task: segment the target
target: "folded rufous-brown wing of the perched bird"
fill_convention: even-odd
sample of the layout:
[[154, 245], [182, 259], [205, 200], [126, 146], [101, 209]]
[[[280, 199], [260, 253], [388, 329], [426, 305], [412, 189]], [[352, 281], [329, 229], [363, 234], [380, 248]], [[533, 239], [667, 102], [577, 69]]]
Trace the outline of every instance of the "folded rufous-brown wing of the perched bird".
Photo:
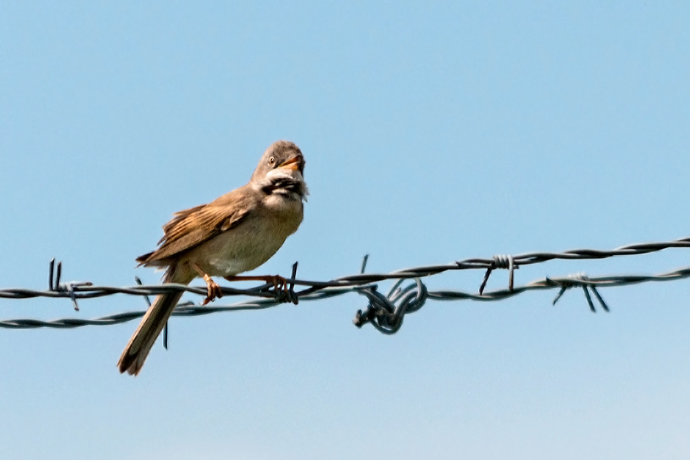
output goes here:
[[159, 248], [137, 258], [137, 261], [144, 265], [158, 265], [155, 262], [190, 250], [238, 226], [255, 206], [252, 194], [242, 189], [233, 190], [208, 204], [175, 212], [175, 217], [163, 226], [164, 236], [158, 242]]

